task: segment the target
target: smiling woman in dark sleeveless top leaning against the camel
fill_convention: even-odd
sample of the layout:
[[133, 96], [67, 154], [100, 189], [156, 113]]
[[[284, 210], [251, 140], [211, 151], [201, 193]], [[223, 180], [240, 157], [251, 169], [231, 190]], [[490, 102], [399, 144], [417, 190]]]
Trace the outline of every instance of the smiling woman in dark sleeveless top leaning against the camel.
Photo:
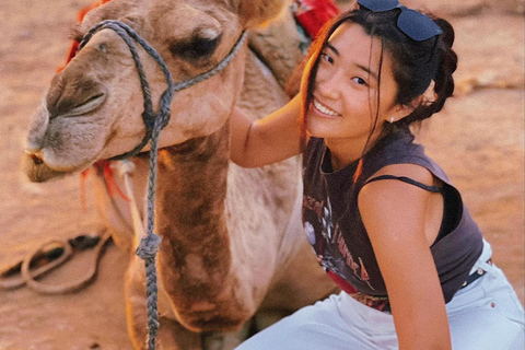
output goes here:
[[514, 291], [409, 130], [453, 93], [453, 28], [397, 0], [358, 3], [314, 43], [298, 96], [232, 118], [242, 166], [303, 153], [305, 233], [342, 289], [238, 349], [523, 349]]

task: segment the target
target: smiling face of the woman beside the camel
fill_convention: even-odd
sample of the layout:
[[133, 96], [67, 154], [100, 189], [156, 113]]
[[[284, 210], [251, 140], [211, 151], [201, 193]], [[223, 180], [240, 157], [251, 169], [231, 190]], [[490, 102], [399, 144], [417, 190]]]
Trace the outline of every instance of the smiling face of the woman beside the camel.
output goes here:
[[397, 84], [386, 51], [378, 85], [380, 59], [381, 39], [368, 35], [360, 25], [347, 22], [334, 32], [319, 57], [308, 114], [310, 135], [327, 141], [364, 140], [364, 147], [376, 119], [377, 96], [380, 110], [372, 141], [383, 122], [405, 116], [400, 115], [402, 107], [395, 103]]

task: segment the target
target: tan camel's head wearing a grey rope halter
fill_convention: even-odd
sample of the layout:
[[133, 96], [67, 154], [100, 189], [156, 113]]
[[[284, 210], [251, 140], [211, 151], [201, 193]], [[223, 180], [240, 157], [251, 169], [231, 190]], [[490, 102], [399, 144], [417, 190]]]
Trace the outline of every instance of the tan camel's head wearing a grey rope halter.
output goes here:
[[[163, 57], [175, 82], [208, 71], [232, 49], [243, 30], [277, 15], [285, 0], [112, 0], [84, 18], [80, 39], [96, 23], [131, 26]], [[137, 45], [158, 110], [166, 89], [156, 62]], [[217, 131], [242, 88], [244, 48], [219, 74], [175, 93], [160, 144]], [[34, 182], [82, 171], [132, 150], [142, 140], [143, 97], [126, 43], [109, 28], [96, 32], [56, 74], [26, 140], [26, 173]]]

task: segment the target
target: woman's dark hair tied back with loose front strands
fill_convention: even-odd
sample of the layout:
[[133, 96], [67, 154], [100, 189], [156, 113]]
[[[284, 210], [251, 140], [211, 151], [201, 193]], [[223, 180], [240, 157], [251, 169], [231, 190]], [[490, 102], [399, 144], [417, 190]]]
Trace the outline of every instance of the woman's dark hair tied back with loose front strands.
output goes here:
[[[320, 52], [330, 35], [339, 25], [346, 22], [359, 24], [364, 28], [365, 33], [382, 39], [382, 59], [380, 65], [383, 61], [383, 51], [388, 51], [393, 60], [394, 79], [398, 86], [397, 103], [412, 105], [415, 98], [425, 92], [430, 82], [432, 80], [435, 82], [435, 101], [420, 103], [418, 106], [415, 106], [416, 108], [410, 115], [392, 125], [385, 122], [383, 132], [390, 132], [399, 128], [408, 129], [408, 126], [412, 122], [427, 119], [443, 108], [446, 98], [454, 92], [452, 73], [457, 67], [457, 56], [452, 49], [454, 30], [447, 21], [428, 14], [442, 28], [443, 34], [423, 42], [417, 42], [397, 27], [398, 15], [398, 10], [372, 12], [359, 9], [341, 13], [324, 27], [320, 35], [312, 44], [304, 61], [305, 63], [310, 62], [312, 66], [308, 67], [310, 71], [306, 71], [303, 78], [306, 80], [303, 84], [305, 89], [303, 92], [302, 110], [303, 137], [306, 135], [307, 112], [313, 98]], [[377, 116], [374, 128], [376, 125]], [[371, 135], [374, 128], [371, 130]]]

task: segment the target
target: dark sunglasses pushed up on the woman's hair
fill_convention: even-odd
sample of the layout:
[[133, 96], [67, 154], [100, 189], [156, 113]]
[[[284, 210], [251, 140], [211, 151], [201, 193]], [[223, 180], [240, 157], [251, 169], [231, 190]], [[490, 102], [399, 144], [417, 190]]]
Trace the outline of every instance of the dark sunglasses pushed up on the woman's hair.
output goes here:
[[407, 9], [398, 0], [358, 0], [361, 9], [372, 12], [385, 12], [400, 9], [397, 27], [416, 42], [423, 42], [440, 35], [443, 31], [429, 16], [416, 10]]

